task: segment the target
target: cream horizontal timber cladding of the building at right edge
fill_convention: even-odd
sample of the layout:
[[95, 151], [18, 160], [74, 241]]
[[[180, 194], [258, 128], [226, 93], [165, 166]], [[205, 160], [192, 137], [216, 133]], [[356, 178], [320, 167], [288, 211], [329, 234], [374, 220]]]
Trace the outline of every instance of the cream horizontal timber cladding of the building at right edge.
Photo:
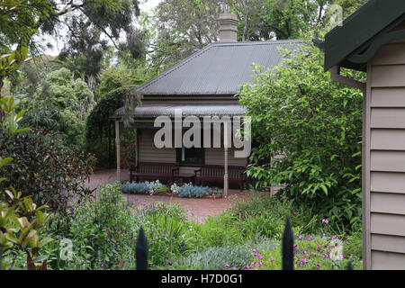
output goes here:
[[384, 45], [367, 76], [368, 268], [405, 269], [405, 43]]

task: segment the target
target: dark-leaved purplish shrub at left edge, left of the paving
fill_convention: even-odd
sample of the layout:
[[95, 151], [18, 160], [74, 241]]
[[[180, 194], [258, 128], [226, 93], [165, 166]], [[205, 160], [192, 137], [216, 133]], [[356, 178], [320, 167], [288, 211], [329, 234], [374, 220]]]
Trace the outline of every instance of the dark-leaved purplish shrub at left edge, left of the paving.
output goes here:
[[65, 148], [58, 137], [34, 130], [13, 138], [0, 139], [2, 155], [13, 157], [4, 166], [7, 180], [0, 184], [13, 185], [23, 195], [32, 195], [40, 205], [47, 204], [53, 211], [66, 215], [72, 198], [80, 200], [90, 193], [84, 181], [93, 173], [84, 153]]

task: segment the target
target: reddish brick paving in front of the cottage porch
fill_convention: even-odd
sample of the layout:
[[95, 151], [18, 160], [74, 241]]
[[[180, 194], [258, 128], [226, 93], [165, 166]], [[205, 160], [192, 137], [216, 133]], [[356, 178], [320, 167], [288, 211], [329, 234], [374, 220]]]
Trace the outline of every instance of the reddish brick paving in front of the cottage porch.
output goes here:
[[[86, 183], [89, 188], [96, 188], [96, 193], [100, 191], [100, 186], [103, 184], [113, 183], [116, 179], [116, 171], [113, 170], [102, 170], [97, 171], [94, 175], [90, 176], [90, 182]], [[121, 171], [121, 180], [129, 180], [128, 171]], [[193, 220], [202, 223], [210, 215], [220, 214], [225, 209], [231, 207], [232, 202], [230, 200], [235, 197], [243, 196], [238, 190], [229, 190], [228, 197], [220, 199], [188, 199], [188, 198], [177, 198], [169, 196], [158, 196], [158, 195], [127, 195], [125, 197], [131, 202], [135, 202], [137, 207], [142, 207], [143, 205], [148, 205], [153, 202], [166, 202], [166, 203], [178, 203], [184, 208], [186, 212], [186, 217], [188, 220]]]

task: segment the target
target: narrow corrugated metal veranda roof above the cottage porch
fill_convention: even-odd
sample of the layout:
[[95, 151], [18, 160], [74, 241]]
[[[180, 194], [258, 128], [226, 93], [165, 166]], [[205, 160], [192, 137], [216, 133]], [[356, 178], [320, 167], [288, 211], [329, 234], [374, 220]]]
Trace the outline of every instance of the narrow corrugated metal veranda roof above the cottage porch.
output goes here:
[[[238, 103], [235, 104], [149, 104], [139, 105], [132, 112], [134, 118], [155, 118], [157, 116], [175, 116], [175, 110], [181, 109], [183, 116], [194, 115], [202, 116], [239, 116], [246, 112], [246, 109]], [[114, 118], [121, 118], [124, 114], [124, 108], [115, 112]]]

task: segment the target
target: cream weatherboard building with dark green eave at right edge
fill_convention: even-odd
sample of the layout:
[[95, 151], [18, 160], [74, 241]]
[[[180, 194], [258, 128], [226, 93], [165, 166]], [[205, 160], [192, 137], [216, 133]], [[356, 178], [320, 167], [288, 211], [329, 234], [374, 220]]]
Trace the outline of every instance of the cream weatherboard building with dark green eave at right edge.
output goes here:
[[[368, 1], [323, 48], [332, 79], [364, 91], [364, 268], [405, 269], [405, 1]], [[341, 67], [365, 71], [367, 82]]]

